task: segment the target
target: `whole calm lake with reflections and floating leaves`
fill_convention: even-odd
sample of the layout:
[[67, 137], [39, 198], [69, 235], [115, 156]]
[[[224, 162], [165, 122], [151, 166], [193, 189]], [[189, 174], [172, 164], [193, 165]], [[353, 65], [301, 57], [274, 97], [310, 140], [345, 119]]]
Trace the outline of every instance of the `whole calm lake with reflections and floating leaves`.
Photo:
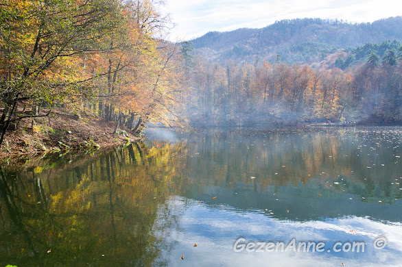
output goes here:
[[401, 266], [401, 130], [147, 129], [4, 162], [0, 266]]

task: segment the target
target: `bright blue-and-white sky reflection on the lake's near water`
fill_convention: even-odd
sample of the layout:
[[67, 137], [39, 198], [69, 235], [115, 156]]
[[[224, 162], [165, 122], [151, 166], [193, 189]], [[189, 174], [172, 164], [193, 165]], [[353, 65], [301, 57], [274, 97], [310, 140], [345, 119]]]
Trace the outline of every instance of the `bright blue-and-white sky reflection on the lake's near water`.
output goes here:
[[[180, 227], [169, 229], [167, 242], [176, 244], [165, 255], [171, 266], [400, 266], [401, 223], [386, 223], [356, 216], [294, 222], [265, 215], [263, 210], [239, 210], [227, 205], [207, 205], [172, 196], [165, 205], [180, 214]], [[158, 222], [161, 223], [161, 222]], [[158, 224], [157, 223], [157, 224]], [[351, 231], [355, 231], [352, 234]], [[166, 235], [160, 233], [161, 235]], [[373, 248], [378, 236], [386, 236], [385, 249]], [[236, 253], [238, 238], [253, 242], [325, 242], [324, 252]], [[365, 242], [365, 251], [327, 252], [335, 242]], [[197, 246], [194, 247], [193, 244]], [[185, 259], [180, 257], [184, 255]]]

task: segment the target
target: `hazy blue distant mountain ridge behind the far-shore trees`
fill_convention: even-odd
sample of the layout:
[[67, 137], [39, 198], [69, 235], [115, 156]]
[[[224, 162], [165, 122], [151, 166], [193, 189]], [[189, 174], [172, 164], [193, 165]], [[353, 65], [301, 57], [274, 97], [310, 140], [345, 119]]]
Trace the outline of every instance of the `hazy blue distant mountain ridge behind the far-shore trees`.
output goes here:
[[[402, 16], [383, 18], [373, 23], [348, 23], [342, 20], [296, 18], [276, 21], [261, 29], [211, 31], [191, 40], [196, 53], [212, 61], [250, 62], [256, 56], [273, 62], [321, 62], [337, 51], [350, 50], [367, 42], [402, 41]], [[335, 56], [336, 58], [336, 56]]]

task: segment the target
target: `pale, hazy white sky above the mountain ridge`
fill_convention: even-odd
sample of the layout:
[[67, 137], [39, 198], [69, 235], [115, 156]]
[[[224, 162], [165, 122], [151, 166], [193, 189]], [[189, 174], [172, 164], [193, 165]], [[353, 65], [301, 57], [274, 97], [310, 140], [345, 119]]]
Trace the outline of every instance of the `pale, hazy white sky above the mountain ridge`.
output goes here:
[[339, 18], [372, 22], [402, 16], [401, 0], [165, 0], [176, 27], [169, 40], [189, 40], [208, 31], [261, 28], [285, 18]]

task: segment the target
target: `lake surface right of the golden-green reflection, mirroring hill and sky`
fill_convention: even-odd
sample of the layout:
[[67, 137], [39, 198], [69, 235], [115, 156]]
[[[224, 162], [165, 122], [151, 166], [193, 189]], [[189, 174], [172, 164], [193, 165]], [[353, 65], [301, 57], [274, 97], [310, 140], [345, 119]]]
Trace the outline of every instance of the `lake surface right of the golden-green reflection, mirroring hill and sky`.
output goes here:
[[[190, 186], [165, 204], [180, 215], [180, 227], [161, 233], [174, 244], [165, 258], [173, 266], [402, 266], [400, 133], [397, 127], [148, 131], [150, 139], [189, 146], [178, 160]], [[388, 238], [383, 250], [373, 248], [379, 236]], [[240, 237], [326, 246], [321, 253], [235, 253]], [[335, 242], [364, 242], [365, 252], [336, 253]]]

